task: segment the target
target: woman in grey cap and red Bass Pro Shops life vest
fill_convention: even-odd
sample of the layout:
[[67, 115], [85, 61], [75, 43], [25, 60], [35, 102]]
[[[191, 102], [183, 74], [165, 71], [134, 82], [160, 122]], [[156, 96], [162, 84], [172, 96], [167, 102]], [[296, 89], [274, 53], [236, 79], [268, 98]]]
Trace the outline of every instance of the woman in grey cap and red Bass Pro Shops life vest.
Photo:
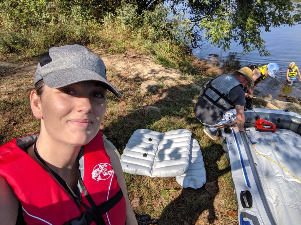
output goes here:
[[121, 98], [103, 61], [80, 45], [52, 47], [34, 85], [40, 132], [0, 147], [1, 224], [137, 224], [119, 158], [99, 131], [107, 90]]

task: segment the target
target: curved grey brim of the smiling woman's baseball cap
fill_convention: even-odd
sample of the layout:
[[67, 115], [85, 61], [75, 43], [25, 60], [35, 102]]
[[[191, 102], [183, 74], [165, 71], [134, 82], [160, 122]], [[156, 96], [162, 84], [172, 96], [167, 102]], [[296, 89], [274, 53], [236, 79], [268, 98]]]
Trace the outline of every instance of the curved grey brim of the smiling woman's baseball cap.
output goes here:
[[45, 84], [50, 88], [61, 88], [70, 84], [89, 80], [95, 80], [103, 83], [109, 91], [111, 91], [118, 98], [121, 98], [121, 94], [117, 90], [117, 88], [115, 88], [104, 77], [102, 77], [98, 73], [95, 73], [92, 70], [82, 68], [70, 68], [55, 71], [54, 73], [50, 73], [43, 78]]

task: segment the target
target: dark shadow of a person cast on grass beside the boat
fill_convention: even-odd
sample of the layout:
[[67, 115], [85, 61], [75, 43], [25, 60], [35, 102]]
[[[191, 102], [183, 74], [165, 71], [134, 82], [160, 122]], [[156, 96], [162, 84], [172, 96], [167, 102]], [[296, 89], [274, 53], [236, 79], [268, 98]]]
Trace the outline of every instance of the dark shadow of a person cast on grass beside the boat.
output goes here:
[[208, 165], [205, 166], [206, 184], [198, 189], [183, 188], [181, 195], [163, 209], [159, 224], [199, 224], [198, 218], [205, 210], [208, 210], [208, 214], [207, 218], [202, 217], [203, 223], [211, 224], [218, 219], [213, 204], [216, 194], [219, 193], [218, 178], [228, 173], [230, 167], [223, 170], [219, 170], [218, 168], [217, 161], [223, 155], [220, 145], [213, 144], [201, 149], [201, 151], [204, 161], [209, 161]]

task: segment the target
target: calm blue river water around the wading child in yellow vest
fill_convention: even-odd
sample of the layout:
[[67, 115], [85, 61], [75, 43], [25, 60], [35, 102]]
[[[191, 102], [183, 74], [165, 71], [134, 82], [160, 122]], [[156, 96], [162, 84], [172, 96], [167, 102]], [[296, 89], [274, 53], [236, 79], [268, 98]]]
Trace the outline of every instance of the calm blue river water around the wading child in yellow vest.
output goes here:
[[[257, 63], [268, 64], [276, 62], [279, 71], [276, 78], [267, 77], [255, 87], [259, 95], [269, 93], [275, 99], [279, 99], [278, 94], [281, 89], [287, 95], [301, 98], [301, 82], [297, 75], [297, 82], [293, 86], [286, 85], [286, 71], [290, 62], [295, 62], [301, 70], [301, 25], [281, 26], [271, 28], [271, 32], [262, 32], [261, 37], [266, 41], [266, 49], [271, 53], [270, 56], [260, 56], [258, 51], [249, 52], [243, 55], [243, 48], [237, 43], [231, 43], [230, 50], [222, 52], [221, 49], [207, 44], [203, 49], [194, 49], [193, 54], [200, 59], [205, 59], [213, 64], [219, 65], [230, 71]], [[209, 54], [217, 54], [219, 57], [210, 57]], [[301, 72], [301, 71], [300, 71]], [[285, 100], [282, 100], [285, 101]]]

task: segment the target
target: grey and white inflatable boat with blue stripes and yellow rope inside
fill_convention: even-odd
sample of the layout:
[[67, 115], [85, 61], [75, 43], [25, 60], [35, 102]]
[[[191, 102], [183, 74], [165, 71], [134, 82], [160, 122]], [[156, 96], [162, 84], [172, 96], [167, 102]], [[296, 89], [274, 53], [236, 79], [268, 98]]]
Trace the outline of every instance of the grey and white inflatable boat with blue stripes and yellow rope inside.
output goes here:
[[[254, 108], [245, 117], [245, 134], [231, 127], [219, 131], [239, 224], [301, 224], [301, 115]], [[276, 131], [256, 130], [257, 119], [274, 123]]]

